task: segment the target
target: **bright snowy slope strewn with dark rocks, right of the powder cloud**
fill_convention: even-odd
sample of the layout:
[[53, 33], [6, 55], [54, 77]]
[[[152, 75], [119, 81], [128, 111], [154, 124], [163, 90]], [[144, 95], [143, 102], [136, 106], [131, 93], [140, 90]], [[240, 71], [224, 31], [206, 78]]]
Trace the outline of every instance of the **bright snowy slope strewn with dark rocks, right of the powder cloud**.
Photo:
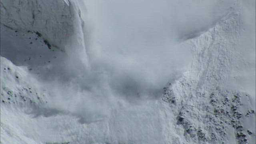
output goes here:
[[[192, 64], [182, 78], [164, 88], [163, 100], [170, 103], [188, 141], [255, 142], [255, 96], [227, 84], [235, 79], [232, 71], [243, 68], [237, 66], [243, 57], [241, 14], [230, 11], [216, 26], [188, 40]], [[255, 68], [253, 61], [244, 64]]]

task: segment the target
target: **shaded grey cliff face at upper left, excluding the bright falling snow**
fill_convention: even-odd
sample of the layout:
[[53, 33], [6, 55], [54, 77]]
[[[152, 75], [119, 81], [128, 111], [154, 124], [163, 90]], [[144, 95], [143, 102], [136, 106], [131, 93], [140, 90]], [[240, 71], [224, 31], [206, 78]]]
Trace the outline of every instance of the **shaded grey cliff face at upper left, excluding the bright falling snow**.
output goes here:
[[39, 32], [50, 44], [64, 49], [68, 36], [79, 26], [75, 10], [62, 0], [3, 0], [1, 23], [17, 30]]

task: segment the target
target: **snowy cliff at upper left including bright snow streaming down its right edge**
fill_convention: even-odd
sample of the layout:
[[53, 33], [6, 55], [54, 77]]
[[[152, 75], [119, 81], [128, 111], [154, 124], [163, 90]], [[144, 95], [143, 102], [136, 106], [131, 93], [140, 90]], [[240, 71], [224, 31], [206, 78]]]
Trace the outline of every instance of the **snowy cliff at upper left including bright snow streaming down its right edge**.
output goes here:
[[1, 0], [1, 24], [37, 32], [48, 48], [54, 46], [68, 54], [72, 48], [86, 58], [84, 10], [82, 2], [75, 0]]

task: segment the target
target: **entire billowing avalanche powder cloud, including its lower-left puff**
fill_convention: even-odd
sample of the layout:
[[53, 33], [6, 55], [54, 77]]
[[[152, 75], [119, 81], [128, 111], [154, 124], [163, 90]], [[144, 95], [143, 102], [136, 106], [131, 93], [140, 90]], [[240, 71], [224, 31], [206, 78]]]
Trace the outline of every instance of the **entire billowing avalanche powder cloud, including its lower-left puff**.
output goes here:
[[[214, 26], [234, 4], [86, 1], [81, 16], [90, 69], [77, 61], [76, 52], [69, 55], [58, 82], [47, 84], [54, 88], [53, 102], [58, 101], [54, 105], [84, 123], [109, 115], [120, 100], [140, 103], [140, 99], [159, 98], [162, 88], [178, 79], [192, 60], [191, 46], [182, 42]], [[66, 81], [60, 84], [61, 78]]]

